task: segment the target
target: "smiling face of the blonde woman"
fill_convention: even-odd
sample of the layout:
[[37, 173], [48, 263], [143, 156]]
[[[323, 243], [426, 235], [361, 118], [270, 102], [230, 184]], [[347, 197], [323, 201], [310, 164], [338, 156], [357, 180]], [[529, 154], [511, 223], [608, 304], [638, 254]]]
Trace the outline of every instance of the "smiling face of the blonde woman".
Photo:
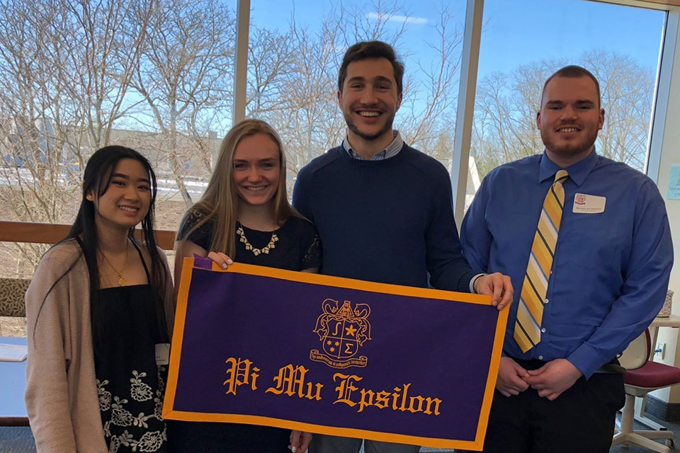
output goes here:
[[281, 176], [280, 151], [267, 134], [241, 139], [234, 150], [232, 179], [241, 200], [249, 205], [273, 202]]

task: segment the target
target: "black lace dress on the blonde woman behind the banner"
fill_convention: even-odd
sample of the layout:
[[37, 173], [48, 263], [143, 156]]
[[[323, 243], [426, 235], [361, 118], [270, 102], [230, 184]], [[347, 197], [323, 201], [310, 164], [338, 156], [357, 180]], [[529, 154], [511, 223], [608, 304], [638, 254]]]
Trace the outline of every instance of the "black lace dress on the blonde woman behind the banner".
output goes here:
[[[182, 219], [179, 237], [202, 219], [200, 212], [191, 210]], [[272, 231], [257, 231], [242, 227], [246, 240], [252, 248], [265, 248], [272, 239]], [[214, 231], [213, 223], [208, 221], [188, 236], [188, 240], [210, 251], [210, 241]], [[279, 229], [274, 231], [278, 241], [273, 243], [268, 253], [255, 254], [246, 249], [241, 235], [234, 232], [237, 263], [254, 264], [286, 270], [305, 270], [318, 268], [321, 264], [321, 244], [317, 229], [309, 221], [300, 217], [288, 218]], [[257, 452], [284, 453], [288, 450], [290, 430], [258, 425], [236, 423], [199, 423], [169, 422], [169, 447], [172, 453], [183, 452]]]

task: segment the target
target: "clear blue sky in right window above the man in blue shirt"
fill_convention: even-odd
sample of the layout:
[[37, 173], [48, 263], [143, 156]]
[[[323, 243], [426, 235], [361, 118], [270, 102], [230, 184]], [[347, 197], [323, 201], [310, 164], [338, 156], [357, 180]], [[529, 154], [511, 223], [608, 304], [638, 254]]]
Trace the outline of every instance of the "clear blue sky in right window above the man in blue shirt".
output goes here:
[[665, 13], [584, 0], [487, 0], [480, 74], [596, 47], [657, 67]]

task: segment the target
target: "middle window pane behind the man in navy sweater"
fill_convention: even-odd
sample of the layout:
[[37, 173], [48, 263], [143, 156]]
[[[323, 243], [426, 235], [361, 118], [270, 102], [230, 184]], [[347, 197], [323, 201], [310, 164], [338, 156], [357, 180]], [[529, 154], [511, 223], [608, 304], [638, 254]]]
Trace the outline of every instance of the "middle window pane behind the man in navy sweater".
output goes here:
[[465, 4], [253, 0], [246, 117], [271, 123], [297, 171], [341, 143], [337, 79], [347, 47], [382, 40], [405, 64], [395, 118], [407, 144], [450, 168]]

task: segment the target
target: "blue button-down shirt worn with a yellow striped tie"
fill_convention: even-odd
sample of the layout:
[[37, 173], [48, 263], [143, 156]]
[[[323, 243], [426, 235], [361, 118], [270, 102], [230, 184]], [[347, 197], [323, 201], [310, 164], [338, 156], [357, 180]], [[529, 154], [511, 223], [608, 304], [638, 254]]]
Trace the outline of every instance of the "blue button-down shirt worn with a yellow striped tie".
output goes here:
[[[543, 154], [494, 169], [465, 215], [460, 239], [473, 269], [511, 277], [504, 353], [566, 358], [590, 377], [659, 312], [673, 251], [664, 201], [650, 178], [595, 151], [565, 169], [565, 210], [536, 347], [522, 353], [513, 331], [540, 210], [560, 167]], [[574, 212], [577, 193], [606, 197], [604, 212]]]

